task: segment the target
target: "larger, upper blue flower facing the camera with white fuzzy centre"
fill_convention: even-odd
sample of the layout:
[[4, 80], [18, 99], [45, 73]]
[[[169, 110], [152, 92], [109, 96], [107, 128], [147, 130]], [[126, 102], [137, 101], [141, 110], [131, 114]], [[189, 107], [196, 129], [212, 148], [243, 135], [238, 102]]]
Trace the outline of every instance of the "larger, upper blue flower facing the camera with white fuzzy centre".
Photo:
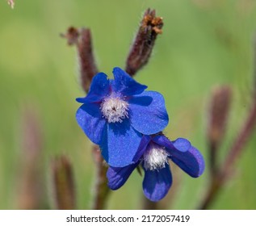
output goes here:
[[104, 159], [114, 167], [133, 163], [141, 142], [141, 133], [162, 131], [168, 124], [162, 94], [145, 91], [120, 68], [113, 70], [114, 79], [105, 73], [94, 76], [89, 93], [77, 98], [83, 103], [77, 121], [86, 136], [99, 144]]

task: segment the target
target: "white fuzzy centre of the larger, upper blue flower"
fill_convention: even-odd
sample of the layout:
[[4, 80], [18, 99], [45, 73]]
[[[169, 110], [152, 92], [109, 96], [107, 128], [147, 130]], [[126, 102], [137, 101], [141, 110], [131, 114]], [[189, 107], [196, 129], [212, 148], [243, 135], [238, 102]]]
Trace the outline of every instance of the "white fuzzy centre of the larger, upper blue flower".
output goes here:
[[119, 97], [105, 98], [100, 108], [108, 123], [121, 123], [128, 118], [128, 103]]

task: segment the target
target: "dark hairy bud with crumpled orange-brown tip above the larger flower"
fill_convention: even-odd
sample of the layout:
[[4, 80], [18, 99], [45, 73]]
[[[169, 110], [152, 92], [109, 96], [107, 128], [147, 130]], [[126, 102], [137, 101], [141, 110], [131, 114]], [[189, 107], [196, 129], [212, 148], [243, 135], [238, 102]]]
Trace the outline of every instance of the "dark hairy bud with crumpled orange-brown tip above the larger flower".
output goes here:
[[155, 10], [145, 11], [126, 61], [125, 70], [131, 76], [149, 61], [157, 35], [162, 34], [162, 26], [162, 17], [157, 17]]

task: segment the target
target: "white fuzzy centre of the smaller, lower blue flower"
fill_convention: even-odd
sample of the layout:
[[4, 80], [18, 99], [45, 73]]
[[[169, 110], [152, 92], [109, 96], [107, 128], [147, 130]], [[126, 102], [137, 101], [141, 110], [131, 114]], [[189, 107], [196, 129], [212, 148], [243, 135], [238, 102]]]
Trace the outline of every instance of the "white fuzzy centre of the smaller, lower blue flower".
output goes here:
[[145, 170], [161, 170], [168, 164], [168, 153], [165, 148], [157, 144], [149, 144], [143, 155]]

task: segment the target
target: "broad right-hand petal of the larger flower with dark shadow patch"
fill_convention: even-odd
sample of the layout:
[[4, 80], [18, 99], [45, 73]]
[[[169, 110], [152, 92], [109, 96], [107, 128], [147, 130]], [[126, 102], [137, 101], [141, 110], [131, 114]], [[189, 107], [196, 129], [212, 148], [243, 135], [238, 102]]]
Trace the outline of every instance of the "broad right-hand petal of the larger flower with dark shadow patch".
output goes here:
[[128, 100], [132, 127], [146, 135], [161, 132], [169, 118], [162, 94], [144, 91]]

